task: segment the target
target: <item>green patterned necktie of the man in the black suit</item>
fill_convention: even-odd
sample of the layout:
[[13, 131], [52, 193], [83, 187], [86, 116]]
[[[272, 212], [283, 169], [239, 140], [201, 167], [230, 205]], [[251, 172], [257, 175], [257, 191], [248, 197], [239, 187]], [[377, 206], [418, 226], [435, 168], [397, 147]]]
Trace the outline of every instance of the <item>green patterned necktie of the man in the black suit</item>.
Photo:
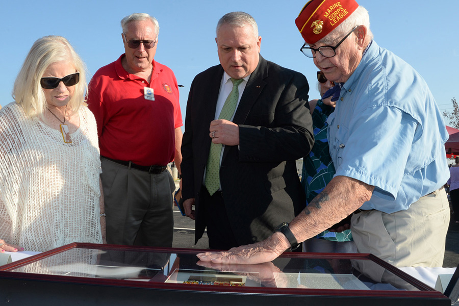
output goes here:
[[[233, 90], [231, 91], [230, 95], [228, 95], [228, 97], [226, 98], [225, 104], [221, 109], [218, 119], [231, 120], [231, 117], [233, 117], [239, 99], [238, 85], [241, 84], [242, 81], [244, 81], [244, 79], [236, 80], [231, 78], [231, 82], [233, 82]], [[221, 143], [211, 143], [209, 159], [207, 160], [206, 180], [204, 181], [210, 195], [213, 195], [215, 191], [217, 191], [218, 188], [220, 188], [221, 148]]]

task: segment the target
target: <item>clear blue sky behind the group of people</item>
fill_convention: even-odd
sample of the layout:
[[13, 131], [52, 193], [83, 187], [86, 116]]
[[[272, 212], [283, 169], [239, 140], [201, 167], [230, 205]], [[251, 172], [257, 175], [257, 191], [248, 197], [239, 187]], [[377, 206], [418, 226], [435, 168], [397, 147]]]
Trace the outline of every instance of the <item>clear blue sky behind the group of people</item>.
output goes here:
[[[2, 1], [0, 105], [13, 98], [11, 90], [33, 42], [45, 35], [66, 37], [86, 62], [89, 77], [123, 53], [119, 21], [131, 13], [148, 13], [160, 24], [155, 59], [174, 72], [185, 118], [194, 76], [218, 64], [215, 27], [227, 12], [244, 11], [258, 23], [261, 54], [267, 60], [303, 73], [310, 97], [317, 98], [316, 71], [299, 52], [303, 44], [294, 20], [306, 0], [228, 1]], [[451, 110], [459, 100], [459, 1], [360, 0], [370, 13], [375, 41], [411, 64], [427, 81], [439, 108]], [[440, 4], [441, 6], [436, 6]]]

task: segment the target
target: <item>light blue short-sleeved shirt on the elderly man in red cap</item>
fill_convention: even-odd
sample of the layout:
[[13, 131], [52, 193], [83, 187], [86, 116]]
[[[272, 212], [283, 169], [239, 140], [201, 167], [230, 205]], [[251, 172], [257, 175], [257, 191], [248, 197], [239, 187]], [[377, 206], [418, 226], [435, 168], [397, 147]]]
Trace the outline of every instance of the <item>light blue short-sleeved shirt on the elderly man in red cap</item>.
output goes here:
[[327, 122], [335, 175], [375, 187], [361, 209], [406, 210], [449, 178], [448, 133], [427, 84], [375, 41]]

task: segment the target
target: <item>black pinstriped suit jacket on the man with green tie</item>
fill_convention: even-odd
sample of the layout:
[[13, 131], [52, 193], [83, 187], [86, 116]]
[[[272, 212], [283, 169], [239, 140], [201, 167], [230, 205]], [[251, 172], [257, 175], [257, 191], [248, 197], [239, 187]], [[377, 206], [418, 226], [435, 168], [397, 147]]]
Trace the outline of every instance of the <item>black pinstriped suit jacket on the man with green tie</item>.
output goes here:
[[[196, 199], [196, 242], [206, 227], [199, 192], [223, 72], [217, 65], [196, 75], [188, 96], [182, 195]], [[305, 207], [295, 160], [314, 143], [308, 91], [304, 75], [260, 56], [233, 120], [239, 125], [239, 148], [224, 146], [220, 167], [227, 215], [240, 245], [266, 239]]]

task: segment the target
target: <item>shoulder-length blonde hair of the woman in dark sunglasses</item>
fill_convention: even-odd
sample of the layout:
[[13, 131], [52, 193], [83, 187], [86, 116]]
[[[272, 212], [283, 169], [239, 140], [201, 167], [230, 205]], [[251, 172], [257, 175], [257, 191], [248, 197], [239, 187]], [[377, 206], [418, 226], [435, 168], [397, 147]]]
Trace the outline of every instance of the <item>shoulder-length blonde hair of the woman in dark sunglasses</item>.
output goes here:
[[40, 80], [45, 70], [58, 62], [69, 62], [80, 72], [80, 82], [74, 85], [67, 110], [77, 113], [81, 105], [86, 105], [88, 86], [84, 62], [64, 37], [44, 36], [34, 42], [14, 81], [13, 98], [28, 116], [44, 119], [47, 102]]

